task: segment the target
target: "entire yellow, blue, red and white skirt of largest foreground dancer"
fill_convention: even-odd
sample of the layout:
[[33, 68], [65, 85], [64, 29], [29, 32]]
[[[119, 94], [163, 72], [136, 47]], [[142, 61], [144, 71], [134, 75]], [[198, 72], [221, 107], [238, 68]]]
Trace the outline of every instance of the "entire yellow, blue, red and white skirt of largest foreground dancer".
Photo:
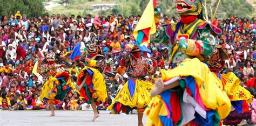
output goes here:
[[180, 77], [179, 86], [153, 97], [144, 111], [147, 125], [219, 125], [231, 111], [220, 80], [197, 58], [161, 70], [163, 81]]

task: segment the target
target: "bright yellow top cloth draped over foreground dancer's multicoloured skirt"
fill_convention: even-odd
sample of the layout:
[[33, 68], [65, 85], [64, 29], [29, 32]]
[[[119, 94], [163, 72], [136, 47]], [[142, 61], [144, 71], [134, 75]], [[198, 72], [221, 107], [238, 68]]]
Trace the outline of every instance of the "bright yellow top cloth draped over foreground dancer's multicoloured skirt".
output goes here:
[[228, 115], [228, 110], [231, 110], [231, 102], [222, 90], [221, 82], [211, 74], [207, 65], [197, 58], [187, 58], [174, 69], [169, 71], [161, 69], [161, 73], [163, 81], [174, 77], [192, 76], [199, 87], [200, 97], [205, 107], [213, 110], [218, 109], [221, 119]]

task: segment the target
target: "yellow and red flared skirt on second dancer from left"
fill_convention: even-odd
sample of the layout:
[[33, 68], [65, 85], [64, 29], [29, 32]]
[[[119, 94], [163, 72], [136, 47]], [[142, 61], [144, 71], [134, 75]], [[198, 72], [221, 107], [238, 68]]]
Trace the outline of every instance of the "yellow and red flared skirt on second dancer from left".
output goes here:
[[88, 73], [88, 76], [85, 85], [80, 90], [81, 98], [88, 104], [91, 104], [92, 100], [97, 104], [105, 102], [107, 91], [103, 75], [95, 68], [84, 67], [78, 75], [78, 85], [81, 85], [85, 79], [85, 73]]

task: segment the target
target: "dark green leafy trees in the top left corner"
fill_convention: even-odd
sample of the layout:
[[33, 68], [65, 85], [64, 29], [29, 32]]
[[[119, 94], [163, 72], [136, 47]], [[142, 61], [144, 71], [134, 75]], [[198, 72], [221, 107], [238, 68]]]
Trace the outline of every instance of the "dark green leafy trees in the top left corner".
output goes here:
[[0, 0], [1, 15], [9, 17], [10, 14], [15, 15], [17, 11], [25, 13], [28, 18], [43, 16], [45, 13], [42, 0]]

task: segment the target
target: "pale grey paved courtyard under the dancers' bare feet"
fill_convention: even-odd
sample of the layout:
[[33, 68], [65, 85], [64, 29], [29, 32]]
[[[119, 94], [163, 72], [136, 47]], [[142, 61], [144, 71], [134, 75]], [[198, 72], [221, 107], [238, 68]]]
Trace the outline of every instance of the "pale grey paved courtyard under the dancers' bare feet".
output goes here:
[[138, 125], [137, 115], [108, 113], [100, 111], [99, 118], [91, 122], [92, 111], [56, 111], [55, 117], [49, 117], [50, 111], [0, 111], [0, 125]]

